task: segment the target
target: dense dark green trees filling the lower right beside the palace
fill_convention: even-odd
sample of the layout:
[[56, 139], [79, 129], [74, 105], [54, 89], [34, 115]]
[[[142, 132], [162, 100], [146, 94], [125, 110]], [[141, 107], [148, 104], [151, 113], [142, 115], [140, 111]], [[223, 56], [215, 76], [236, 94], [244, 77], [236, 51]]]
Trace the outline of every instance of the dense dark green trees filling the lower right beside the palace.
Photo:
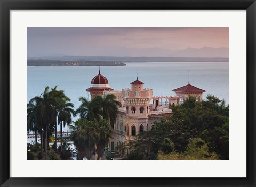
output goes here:
[[228, 159], [228, 114], [224, 100], [189, 97], [172, 106], [154, 129], [127, 143], [126, 159]]

